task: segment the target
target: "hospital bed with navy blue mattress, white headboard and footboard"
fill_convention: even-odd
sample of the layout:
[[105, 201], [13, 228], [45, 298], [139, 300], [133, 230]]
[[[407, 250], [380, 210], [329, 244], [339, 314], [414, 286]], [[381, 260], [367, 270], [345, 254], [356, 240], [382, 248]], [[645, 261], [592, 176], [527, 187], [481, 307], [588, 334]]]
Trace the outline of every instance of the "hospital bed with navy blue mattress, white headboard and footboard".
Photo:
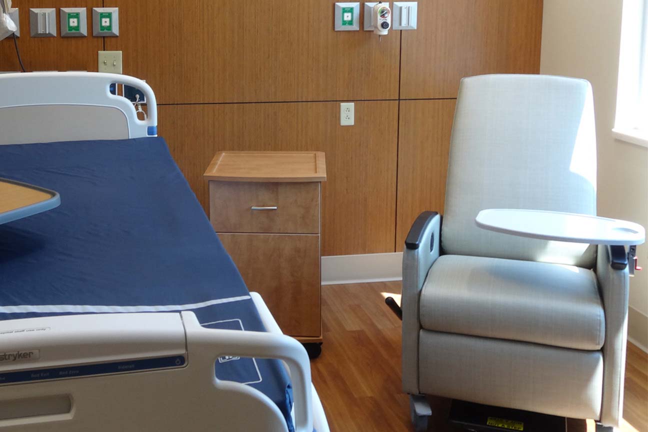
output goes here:
[[329, 431], [305, 350], [245, 287], [145, 82], [0, 75], [0, 144], [0, 177], [61, 201], [0, 225], [0, 431]]

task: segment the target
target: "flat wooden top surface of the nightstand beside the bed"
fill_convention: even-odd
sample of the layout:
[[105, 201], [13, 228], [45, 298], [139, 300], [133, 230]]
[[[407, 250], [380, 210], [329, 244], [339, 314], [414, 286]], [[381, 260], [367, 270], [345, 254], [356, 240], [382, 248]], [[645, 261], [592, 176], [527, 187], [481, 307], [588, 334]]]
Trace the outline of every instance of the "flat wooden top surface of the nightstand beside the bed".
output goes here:
[[219, 152], [203, 177], [211, 181], [326, 181], [323, 152]]

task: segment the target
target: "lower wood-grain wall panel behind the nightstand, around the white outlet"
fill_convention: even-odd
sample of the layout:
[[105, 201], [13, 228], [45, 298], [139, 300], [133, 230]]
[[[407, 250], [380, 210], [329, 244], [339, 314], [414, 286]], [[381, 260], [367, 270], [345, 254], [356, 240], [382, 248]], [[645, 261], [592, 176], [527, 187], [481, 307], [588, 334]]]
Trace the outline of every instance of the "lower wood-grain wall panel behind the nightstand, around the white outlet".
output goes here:
[[340, 126], [340, 104], [212, 104], [159, 107], [159, 133], [209, 208], [202, 174], [222, 150], [326, 152], [322, 253], [393, 252], [398, 102], [356, 102], [356, 124]]

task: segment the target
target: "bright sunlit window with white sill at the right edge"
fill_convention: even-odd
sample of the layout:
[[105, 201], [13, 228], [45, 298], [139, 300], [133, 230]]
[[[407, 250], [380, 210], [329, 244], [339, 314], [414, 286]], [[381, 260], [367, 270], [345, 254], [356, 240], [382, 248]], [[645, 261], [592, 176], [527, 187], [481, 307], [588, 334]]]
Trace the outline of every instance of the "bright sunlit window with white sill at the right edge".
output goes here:
[[623, 0], [614, 135], [648, 147], [648, 0]]

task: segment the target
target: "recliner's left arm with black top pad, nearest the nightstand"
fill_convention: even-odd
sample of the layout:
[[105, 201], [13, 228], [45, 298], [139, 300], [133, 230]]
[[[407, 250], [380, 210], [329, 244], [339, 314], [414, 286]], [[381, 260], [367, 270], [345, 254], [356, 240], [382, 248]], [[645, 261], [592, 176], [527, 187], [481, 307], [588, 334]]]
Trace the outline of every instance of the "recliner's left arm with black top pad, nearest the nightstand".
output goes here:
[[419, 393], [419, 297], [432, 264], [439, 258], [441, 215], [422, 212], [413, 223], [403, 251], [402, 381], [403, 390]]

